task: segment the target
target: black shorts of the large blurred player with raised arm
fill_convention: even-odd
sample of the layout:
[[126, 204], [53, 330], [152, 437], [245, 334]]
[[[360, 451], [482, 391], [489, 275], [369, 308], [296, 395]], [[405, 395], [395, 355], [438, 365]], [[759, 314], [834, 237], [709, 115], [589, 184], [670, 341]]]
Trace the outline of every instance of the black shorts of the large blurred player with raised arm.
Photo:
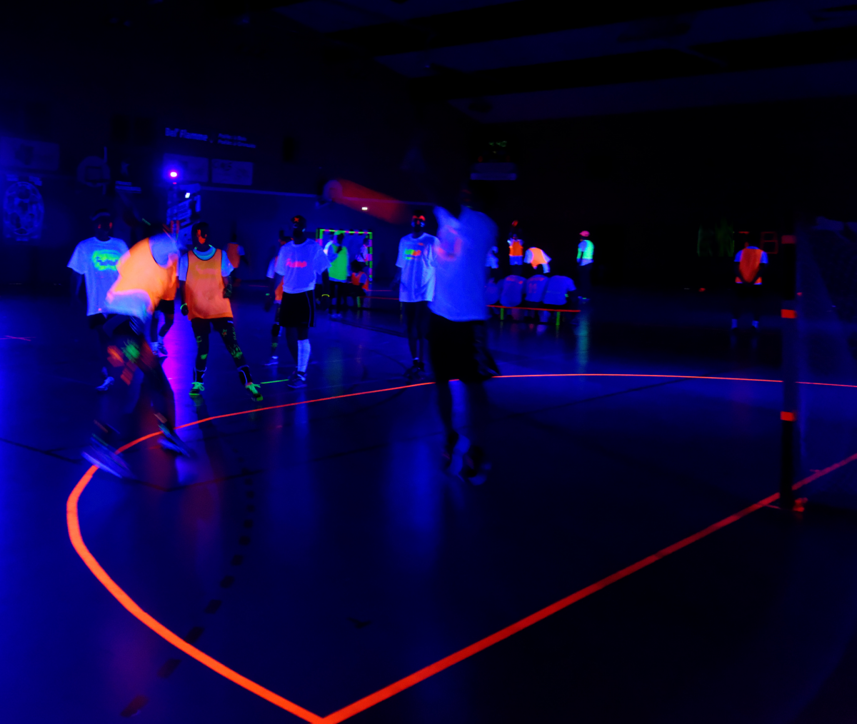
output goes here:
[[482, 382], [500, 374], [482, 320], [453, 322], [429, 312], [428, 356], [435, 380]]

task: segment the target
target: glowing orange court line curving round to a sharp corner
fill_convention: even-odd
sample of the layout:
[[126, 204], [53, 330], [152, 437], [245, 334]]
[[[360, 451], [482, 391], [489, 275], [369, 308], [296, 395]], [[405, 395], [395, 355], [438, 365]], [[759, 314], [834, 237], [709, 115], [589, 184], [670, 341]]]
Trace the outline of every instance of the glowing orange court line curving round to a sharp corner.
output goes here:
[[[781, 380], [750, 380], [746, 378], [740, 377], [704, 377], [704, 376], [696, 376], [696, 375], [682, 375], [682, 374], [599, 374], [599, 373], [568, 373], [568, 374], [504, 374], [499, 375], [500, 378], [504, 379], [512, 379], [518, 377], [656, 377], [662, 379], [678, 379], [678, 380], [734, 380], [734, 381], [747, 381], [747, 382], [779, 382]], [[333, 395], [332, 397], [327, 398], [317, 398], [311, 400], [301, 400], [298, 402], [285, 403], [285, 404], [277, 404], [272, 405], [270, 407], [262, 407], [255, 408], [252, 410], [241, 410], [238, 412], [229, 412], [224, 415], [214, 415], [211, 417], [205, 417], [201, 420], [195, 420], [194, 422], [187, 422], [183, 425], [178, 426], [179, 428], [188, 428], [192, 425], [198, 425], [201, 422], [208, 422], [210, 420], [218, 420], [224, 417], [232, 417], [237, 415], [248, 415], [252, 412], [261, 412], [264, 410], [278, 410], [284, 407], [293, 407], [300, 404], [309, 404], [314, 402], [325, 402], [327, 400], [333, 399], [341, 399], [341, 398], [351, 398], [357, 397], [360, 395], [368, 395], [374, 394], [375, 392], [394, 392], [398, 390], [404, 390], [409, 387], [418, 387], [425, 385], [432, 385], [433, 382], [421, 382], [416, 385], [404, 385], [398, 387], [387, 387], [381, 390], [368, 390], [365, 392], [349, 392], [344, 395]], [[833, 383], [826, 382], [804, 382], [800, 384], [807, 385], [824, 385], [824, 386], [836, 386], [836, 387], [854, 387], [854, 385], [835, 385]], [[141, 438], [137, 438], [136, 440], [132, 440], [127, 445], [123, 445], [119, 448], [119, 452], [124, 452], [128, 450], [130, 447], [135, 446], [141, 443], [143, 440], [149, 440], [150, 438], [156, 437], [160, 433], [151, 433], [142, 436]], [[796, 482], [793, 486], [794, 489], [801, 488], [806, 484], [817, 480], [821, 476], [825, 476], [833, 470], [838, 470], [844, 465], [857, 460], [857, 453], [851, 455], [844, 460], [841, 460], [839, 463], [830, 465], [824, 470], [818, 470], [818, 472], [813, 473], [811, 476], [808, 476], [801, 480], [800, 482]], [[405, 689], [410, 688], [413, 685], [418, 684], [419, 682], [428, 679], [428, 677], [433, 676], [435, 673], [440, 673], [444, 669], [451, 667], [453, 664], [458, 663], [458, 661], [463, 661], [466, 658], [484, 650], [488, 649], [489, 646], [494, 645], [494, 643], [499, 643], [505, 638], [512, 636], [512, 634], [517, 633], [518, 631], [523, 631], [525, 628], [528, 628], [531, 625], [536, 624], [542, 619], [548, 618], [548, 616], [561, 611], [563, 608], [569, 607], [572, 603], [576, 603], [587, 596], [596, 593], [601, 589], [607, 588], [611, 583], [615, 583], [616, 581], [621, 580], [627, 576], [630, 576], [632, 573], [639, 571], [642, 568], [645, 568], [652, 563], [655, 563], [657, 560], [665, 558], [670, 553], [675, 553], [676, 551], [689, 546], [693, 542], [697, 542], [698, 540], [704, 538], [705, 536], [710, 536], [711, 533], [714, 533], [716, 530], [720, 530], [725, 528], [729, 524], [733, 524], [735, 521], [740, 520], [741, 518], [745, 518], [752, 512], [758, 511], [759, 508], [764, 506], [768, 506], [777, 500], [780, 497], [780, 494], [776, 493], [773, 495], [769, 495], [767, 498], [763, 500], [759, 500], [757, 503], [753, 503], [752, 506], [747, 506], [743, 510], [734, 513], [728, 518], [723, 518], [721, 521], [718, 521], [715, 524], [711, 524], [707, 528], [700, 530], [698, 533], [694, 533], [692, 536], [687, 536], [683, 538], [679, 542], [673, 543], [671, 546], [662, 548], [657, 553], [653, 553], [650, 556], [647, 556], [644, 559], [638, 560], [637, 563], [632, 565], [628, 565], [620, 571], [616, 571], [615, 573], [609, 575], [608, 577], [602, 578], [600, 581], [596, 583], [591, 583], [589, 586], [586, 586], [583, 589], [578, 590], [576, 593], [572, 593], [572, 595], [566, 596], [566, 598], [560, 599], [560, 601], [556, 601], [552, 603], [548, 607], [544, 607], [536, 613], [531, 613], [524, 619], [519, 620], [517, 623], [506, 626], [506, 628], [497, 631], [491, 636], [482, 638], [480, 641], [476, 643], [471, 643], [470, 646], [465, 647], [464, 649], [460, 649], [452, 655], [446, 656], [440, 661], [435, 661], [434, 664], [430, 664], [428, 667], [424, 667], [419, 671], [412, 673], [410, 676], [406, 676], [404, 679], [399, 679], [399, 681], [394, 682], [391, 685], [384, 687], [379, 691], [375, 691], [375, 693], [370, 694], [368, 697], [363, 697], [359, 699], [357, 702], [349, 704], [344, 709], [339, 709], [339, 711], [333, 712], [333, 714], [327, 715], [325, 717], [321, 717], [319, 715], [313, 714], [313, 712], [308, 709], [303, 709], [303, 707], [297, 705], [294, 702], [291, 702], [289, 699], [285, 697], [279, 696], [279, 694], [275, 694], [273, 691], [266, 689], [264, 686], [256, 684], [255, 681], [248, 679], [237, 671], [234, 671], [230, 667], [225, 666], [217, 659], [207, 655], [200, 649], [197, 649], [195, 646], [187, 643], [183, 640], [183, 638], [177, 636], [177, 634], [173, 633], [168, 629], [165, 625], [161, 624], [157, 619], [154, 619], [151, 615], [143, 611], [143, 609], [137, 605], [137, 603], [127, 594], [125, 591], [119, 587], [119, 585], [107, 574], [104, 568], [101, 567], [98, 560], [95, 559], [92, 553], [89, 552], [89, 549], [86, 546], [86, 543], [83, 542], [83, 536], [81, 536], [81, 525], [80, 519], [78, 517], [77, 504], [78, 500], [80, 500], [81, 494], [84, 489], [87, 487], [89, 482], [92, 480], [95, 471], [98, 470], [94, 465], [90, 467], [86, 473], [83, 474], [81, 479], [75, 485], [75, 488], [69, 494], [69, 499], [66, 501], [66, 523], [69, 529], [69, 539], [71, 540], [72, 546], [75, 548], [75, 552], [81, 557], [84, 564], [87, 565], [87, 568], [93, 572], [93, 575], [99, 579], [99, 582], [107, 589], [111, 595], [116, 598], [119, 603], [128, 610], [131, 615], [133, 615], [136, 619], [141, 621], [142, 624], [147, 625], [152, 631], [157, 633], [160, 637], [165, 639], [168, 643], [171, 643], [177, 649], [182, 650], [185, 654], [194, 658], [196, 661], [199, 661], [204, 666], [212, 669], [212, 671], [219, 673], [225, 679], [229, 679], [233, 683], [242, 686], [244, 689], [253, 692], [256, 696], [261, 697], [267, 700], [270, 703], [273, 703], [275, 706], [278, 706], [280, 709], [285, 709], [291, 714], [294, 714], [304, 721], [309, 721], [311, 724], [338, 724], [340, 721], [345, 721], [357, 713], [369, 709], [369, 707], [374, 706], [376, 703], [381, 703], [385, 699], [393, 697], [393, 695], [398, 694], [399, 691], [404, 691]]]

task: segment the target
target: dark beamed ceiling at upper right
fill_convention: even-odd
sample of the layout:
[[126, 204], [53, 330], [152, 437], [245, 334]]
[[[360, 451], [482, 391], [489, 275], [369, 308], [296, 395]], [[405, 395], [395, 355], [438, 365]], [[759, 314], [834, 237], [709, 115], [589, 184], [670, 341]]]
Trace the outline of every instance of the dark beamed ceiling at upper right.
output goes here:
[[277, 12], [483, 122], [857, 93], [857, 4], [835, 0], [305, 0]]

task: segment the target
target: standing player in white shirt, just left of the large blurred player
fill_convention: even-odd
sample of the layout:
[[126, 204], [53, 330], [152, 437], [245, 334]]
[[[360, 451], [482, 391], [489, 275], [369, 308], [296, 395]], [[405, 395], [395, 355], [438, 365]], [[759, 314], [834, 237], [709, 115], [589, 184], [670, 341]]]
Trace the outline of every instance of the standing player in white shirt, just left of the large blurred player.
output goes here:
[[406, 377], [417, 379], [425, 374], [426, 337], [428, 335], [428, 302], [434, 298], [434, 244], [437, 237], [425, 232], [425, 213], [417, 210], [411, 218], [413, 231], [399, 240], [399, 267], [393, 278], [393, 289], [399, 284], [399, 302], [405, 312], [408, 346], [413, 365]]

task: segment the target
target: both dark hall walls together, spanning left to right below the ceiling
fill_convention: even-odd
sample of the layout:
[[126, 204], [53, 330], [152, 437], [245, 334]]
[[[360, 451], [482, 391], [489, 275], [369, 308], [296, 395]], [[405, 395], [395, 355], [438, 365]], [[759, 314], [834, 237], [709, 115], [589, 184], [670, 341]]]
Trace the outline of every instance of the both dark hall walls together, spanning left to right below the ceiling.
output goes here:
[[[524, 241], [554, 258], [552, 271], [569, 272], [578, 231], [590, 230], [604, 284], [698, 284], [703, 222], [726, 218], [758, 238], [789, 233], [798, 218], [857, 219], [854, 98], [488, 125], [442, 99], [415, 97], [405, 79], [360, 51], [256, 0], [31, 3], [7, 17], [0, 135], [59, 147], [55, 169], [23, 169], [9, 165], [5, 147], [0, 154], [0, 192], [34, 177], [45, 204], [38, 240], [0, 239], [7, 288], [63, 287], [71, 249], [91, 233], [91, 212], [128, 211], [112, 184], [103, 194], [77, 179], [81, 160], [105, 148], [111, 179], [141, 188], [126, 197], [137, 217], [164, 214], [165, 153], [252, 163], [251, 185], [208, 182], [221, 190], [202, 197], [214, 241], [234, 233], [248, 249], [245, 278], [263, 276], [277, 230], [296, 212], [310, 229], [375, 230], [377, 274], [389, 278], [408, 227], [318, 207], [315, 194], [345, 178], [398, 199], [432, 200], [492, 140], [507, 142], [518, 171], [518, 180], [492, 184], [501, 249], [517, 218]], [[255, 148], [165, 129], [241, 136]], [[117, 236], [132, 233], [117, 224]], [[721, 261], [716, 276], [726, 284], [729, 263]]]

